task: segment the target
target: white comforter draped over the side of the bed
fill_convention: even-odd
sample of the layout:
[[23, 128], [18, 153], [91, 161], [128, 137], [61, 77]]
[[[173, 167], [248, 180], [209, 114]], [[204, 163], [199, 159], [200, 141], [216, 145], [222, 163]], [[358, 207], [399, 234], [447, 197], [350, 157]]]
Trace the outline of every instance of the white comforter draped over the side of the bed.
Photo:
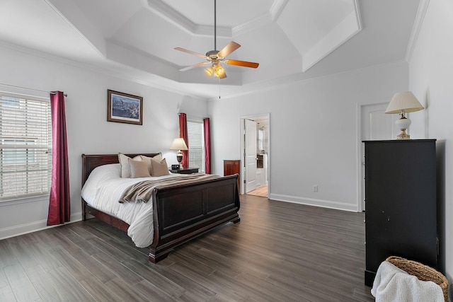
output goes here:
[[95, 168], [82, 187], [82, 198], [93, 208], [115, 216], [130, 225], [127, 235], [139, 248], [151, 245], [154, 235], [153, 203], [120, 203], [122, 192], [134, 183], [143, 180], [164, 179], [182, 174], [170, 174], [149, 178], [121, 178], [119, 163], [101, 165]]

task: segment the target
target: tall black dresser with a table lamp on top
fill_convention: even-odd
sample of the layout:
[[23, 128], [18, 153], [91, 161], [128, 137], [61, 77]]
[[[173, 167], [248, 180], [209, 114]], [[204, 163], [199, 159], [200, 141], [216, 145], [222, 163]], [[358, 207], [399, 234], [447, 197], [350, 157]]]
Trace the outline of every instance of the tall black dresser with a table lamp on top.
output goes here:
[[364, 143], [365, 284], [392, 255], [437, 269], [436, 140]]

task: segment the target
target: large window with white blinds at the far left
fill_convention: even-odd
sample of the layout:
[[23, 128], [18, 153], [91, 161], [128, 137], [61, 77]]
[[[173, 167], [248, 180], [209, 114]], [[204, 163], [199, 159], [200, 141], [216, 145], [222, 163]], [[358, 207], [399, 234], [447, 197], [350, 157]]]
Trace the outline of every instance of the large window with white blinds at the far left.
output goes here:
[[0, 95], [0, 201], [50, 190], [50, 100], [38, 99]]

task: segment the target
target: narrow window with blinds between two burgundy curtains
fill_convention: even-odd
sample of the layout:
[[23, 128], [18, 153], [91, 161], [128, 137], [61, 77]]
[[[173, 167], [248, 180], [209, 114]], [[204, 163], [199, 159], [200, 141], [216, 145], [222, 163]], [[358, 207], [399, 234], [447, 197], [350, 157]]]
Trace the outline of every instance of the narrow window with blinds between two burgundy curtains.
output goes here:
[[198, 168], [198, 172], [205, 172], [205, 136], [203, 122], [187, 121], [189, 141], [189, 168]]

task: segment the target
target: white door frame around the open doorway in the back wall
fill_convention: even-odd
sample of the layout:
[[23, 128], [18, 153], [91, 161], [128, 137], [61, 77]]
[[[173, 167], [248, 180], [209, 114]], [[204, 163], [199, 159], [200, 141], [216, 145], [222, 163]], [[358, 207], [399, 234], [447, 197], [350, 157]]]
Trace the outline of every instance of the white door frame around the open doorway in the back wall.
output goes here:
[[241, 178], [241, 194], [244, 194], [244, 192], [246, 192], [246, 188], [245, 188], [245, 185], [244, 185], [244, 180], [246, 180], [245, 178], [245, 167], [244, 167], [244, 164], [246, 162], [246, 158], [245, 158], [245, 146], [244, 146], [244, 136], [246, 135], [246, 130], [244, 129], [244, 121], [243, 120], [268, 120], [268, 142], [266, 144], [266, 150], [268, 151], [268, 196], [270, 194], [270, 184], [271, 184], [271, 180], [270, 180], [270, 166], [271, 166], [271, 163], [270, 163], [270, 113], [263, 113], [263, 114], [256, 114], [256, 115], [241, 115], [240, 119], [239, 119], [239, 141], [240, 141], [240, 144], [239, 144], [239, 154], [241, 156], [239, 156], [241, 158], [241, 169], [240, 169], [240, 178]]

